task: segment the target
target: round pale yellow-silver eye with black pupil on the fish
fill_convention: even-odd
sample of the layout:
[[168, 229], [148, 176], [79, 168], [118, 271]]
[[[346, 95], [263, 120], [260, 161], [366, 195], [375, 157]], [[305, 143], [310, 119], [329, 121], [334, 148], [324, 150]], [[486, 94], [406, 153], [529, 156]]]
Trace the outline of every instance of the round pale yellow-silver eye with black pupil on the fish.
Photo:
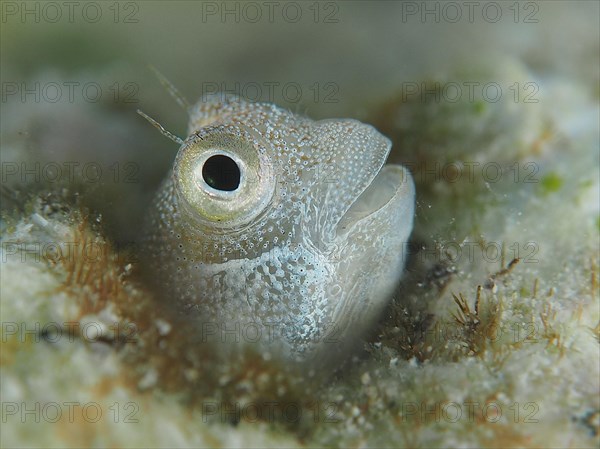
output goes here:
[[262, 143], [235, 128], [207, 127], [183, 142], [173, 179], [199, 224], [237, 228], [263, 213], [275, 190]]

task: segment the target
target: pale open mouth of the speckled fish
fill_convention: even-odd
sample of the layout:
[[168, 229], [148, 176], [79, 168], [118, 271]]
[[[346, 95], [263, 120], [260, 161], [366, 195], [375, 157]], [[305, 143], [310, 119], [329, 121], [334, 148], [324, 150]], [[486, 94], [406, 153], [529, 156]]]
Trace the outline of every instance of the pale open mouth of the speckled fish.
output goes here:
[[401, 165], [385, 165], [371, 184], [354, 200], [337, 225], [337, 235], [349, 233], [358, 223], [377, 213], [392, 211], [414, 196], [410, 172]]

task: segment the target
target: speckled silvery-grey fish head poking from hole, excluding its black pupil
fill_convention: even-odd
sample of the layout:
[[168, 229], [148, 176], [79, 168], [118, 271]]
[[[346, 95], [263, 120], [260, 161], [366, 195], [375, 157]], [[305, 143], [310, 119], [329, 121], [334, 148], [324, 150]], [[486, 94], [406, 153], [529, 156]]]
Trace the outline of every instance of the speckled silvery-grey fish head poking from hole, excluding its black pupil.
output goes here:
[[[144, 231], [164, 301], [285, 357], [342, 350], [373, 325], [404, 267], [415, 193], [406, 169], [384, 167], [390, 146], [356, 120], [203, 97]], [[224, 199], [191, 179], [223, 152], [243, 167]]]

